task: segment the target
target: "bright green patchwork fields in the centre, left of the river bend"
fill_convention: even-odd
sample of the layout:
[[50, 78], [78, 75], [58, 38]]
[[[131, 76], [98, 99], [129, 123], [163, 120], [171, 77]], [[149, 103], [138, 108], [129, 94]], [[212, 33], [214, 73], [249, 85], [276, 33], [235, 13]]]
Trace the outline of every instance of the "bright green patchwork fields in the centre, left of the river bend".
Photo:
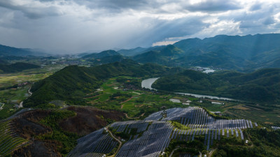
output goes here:
[[[141, 89], [129, 89], [124, 87], [122, 82], [118, 82], [120, 77], [114, 77], [102, 84], [98, 94], [85, 97], [87, 103], [102, 109], [114, 109], [126, 112], [128, 117], [139, 117], [141, 114], [156, 112], [160, 107], [184, 107], [169, 101], [171, 95], [154, 94], [151, 91]], [[125, 82], [139, 78], [122, 77]]]

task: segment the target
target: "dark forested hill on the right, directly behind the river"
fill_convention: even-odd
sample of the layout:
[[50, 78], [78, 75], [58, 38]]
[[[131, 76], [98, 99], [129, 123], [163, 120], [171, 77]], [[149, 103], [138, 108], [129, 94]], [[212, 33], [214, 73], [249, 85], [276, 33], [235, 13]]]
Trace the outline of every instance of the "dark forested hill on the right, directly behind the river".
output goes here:
[[153, 88], [239, 100], [277, 102], [280, 100], [279, 80], [279, 68], [256, 70], [253, 73], [222, 71], [213, 74], [185, 70], [176, 75], [161, 77], [153, 84]]

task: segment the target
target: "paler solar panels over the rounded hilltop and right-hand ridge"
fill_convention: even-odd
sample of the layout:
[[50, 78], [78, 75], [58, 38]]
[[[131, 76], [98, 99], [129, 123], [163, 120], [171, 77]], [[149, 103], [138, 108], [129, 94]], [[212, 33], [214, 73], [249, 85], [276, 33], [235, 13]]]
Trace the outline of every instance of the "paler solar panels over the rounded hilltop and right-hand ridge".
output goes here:
[[[162, 117], [163, 112], [155, 112], [146, 119], [162, 121], [178, 121], [179, 123], [190, 127], [188, 131], [174, 130], [172, 139], [176, 140], [194, 140], [195, 135], [205, 135], [204, 144], [207, 145], [209, 150], [210, 145], [214, 140], [221, 140], [221, 136], [230, 137], [234, 135], [244, 140], [244, 135], [241, 129], [253, 128], [252, 121], [246, 119], [214, 119], [203, 110], [201, 107], [188, 107], [188, 108], [172, 108], [165, 110], [166, 117]], [[258, 124], [255, 123], [255, 126]]]

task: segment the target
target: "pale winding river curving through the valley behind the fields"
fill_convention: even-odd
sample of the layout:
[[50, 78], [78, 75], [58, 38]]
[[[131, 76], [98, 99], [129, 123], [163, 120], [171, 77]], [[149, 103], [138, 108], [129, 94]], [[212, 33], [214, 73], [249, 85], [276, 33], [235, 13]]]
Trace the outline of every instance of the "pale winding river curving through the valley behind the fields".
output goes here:
[[[160, 77], [157, 78], [149, 78], [146, 80], [143, 80], [141, 82], [141, 87], [146, 89], [153, 89], [152, 84], [158, 80]], [[156, 89], [154, 89], [156, 90]], [[194, 96], [195, 98], [211, 98], [211, 99], [218, 99], [218, 100], [235, 100], [232, 98], [223, 98], [218, 96], [207, 96], [207, 95], [200, 95], [200, 94], [188, 94], [188, 93], [181, 93], [181, 92], [174, 92], [174, 94], [184, 95], [184, 96]]]

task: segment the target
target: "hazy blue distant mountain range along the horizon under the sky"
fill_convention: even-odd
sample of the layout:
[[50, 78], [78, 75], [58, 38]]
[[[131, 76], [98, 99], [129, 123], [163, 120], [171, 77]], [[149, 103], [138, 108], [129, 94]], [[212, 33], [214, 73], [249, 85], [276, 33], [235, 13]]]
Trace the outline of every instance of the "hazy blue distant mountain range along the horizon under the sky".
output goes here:
[[[202, 66], [246, 72], [260, 68], [280, 68], [279, 39], [279, 33], [253, 36], [218, 35], [204, 39], [188, 38], [173, 45], [106, 50], [78, 56], [98, 63], [111, 63], [129, 58], [139, 63], [159, 63], [164, 66]], [[41, 53], [0, 45], [0, 57], [37, 54]]]

